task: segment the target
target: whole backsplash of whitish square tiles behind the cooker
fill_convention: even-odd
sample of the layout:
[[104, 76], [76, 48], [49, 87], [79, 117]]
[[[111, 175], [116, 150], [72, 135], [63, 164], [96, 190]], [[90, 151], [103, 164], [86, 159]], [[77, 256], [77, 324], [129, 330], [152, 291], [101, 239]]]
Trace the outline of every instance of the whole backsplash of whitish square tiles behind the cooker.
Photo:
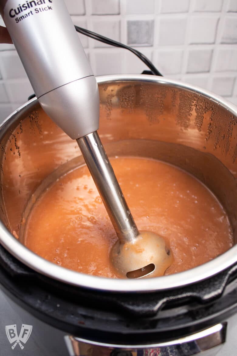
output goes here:
[[[56, 1], [56, 0], [55, 0]], [[65, 0], [75, 25], [122, 43], [152, 60], [165, 76], [236, 103], [237, 0]], [[0, 25], [4, 25], [0, 17]], [[141, 73], [133, 53], [78, 34], [95, 74]], [[0, 120], [33, 89], [14, 45], [0, 44]]]

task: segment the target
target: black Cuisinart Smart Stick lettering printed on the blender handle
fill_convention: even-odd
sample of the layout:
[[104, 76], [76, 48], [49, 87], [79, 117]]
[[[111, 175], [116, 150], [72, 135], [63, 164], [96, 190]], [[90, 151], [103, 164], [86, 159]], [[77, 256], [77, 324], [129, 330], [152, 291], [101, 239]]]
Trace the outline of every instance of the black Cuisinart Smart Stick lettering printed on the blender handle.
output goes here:
[[[9, 16], [15, 19], [16, 23], [26, 19], [34, 14], [39, 14], [43, 11], [53, 10], [52, 6], [40, 6], [47, 5], [47, 3], [52, 4], [53, 0], [37, 0], [37, 1], [26, 1], [24, 4], [19, 4], [15, 9], [10, 9]], [[29, 11], [30, 10], [30, 11]], [[21, 16], [18, 16], [21, 15]]]

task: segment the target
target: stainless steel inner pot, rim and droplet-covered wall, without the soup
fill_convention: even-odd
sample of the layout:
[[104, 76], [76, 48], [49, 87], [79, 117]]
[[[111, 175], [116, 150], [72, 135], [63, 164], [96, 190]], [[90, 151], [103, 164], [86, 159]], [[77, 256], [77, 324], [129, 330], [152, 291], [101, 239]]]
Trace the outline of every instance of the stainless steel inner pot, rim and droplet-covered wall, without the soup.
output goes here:
[[[226, 209], [236, 244], [236, 106], [198, 87], [151, 75], [109, 75], [97, 81], [101, 101], [99, 134], [108, 155], [161, 159], [193, 174]], [[5, 120], [0, 127], [0, 142], [0, 242], [39, 273], [75, 286], [148, 292], [201, 281], [237, 262], [235, 245], [214, 260], [185, 272], [108, 281], [44, 260], [12, 233], [19, 234], [25, 207], [37, 198], [43, 179], [82, 162], [79, 148], [49, 119], [37, 99], [28, 101]]]

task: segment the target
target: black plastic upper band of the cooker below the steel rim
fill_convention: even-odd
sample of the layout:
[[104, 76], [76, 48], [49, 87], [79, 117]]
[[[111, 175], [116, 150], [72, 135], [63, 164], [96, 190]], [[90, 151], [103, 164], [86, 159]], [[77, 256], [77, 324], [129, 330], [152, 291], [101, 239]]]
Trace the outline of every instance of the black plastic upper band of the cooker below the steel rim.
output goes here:
[[215, 325], [237, 311], [237, 285], [223, 294], [236, 274], [237, 265], [175, 290], [98, 292], [34, 272], [0, 246], [0, 284], [9, 298], [55, 328], [99, 342], [165, 342]]

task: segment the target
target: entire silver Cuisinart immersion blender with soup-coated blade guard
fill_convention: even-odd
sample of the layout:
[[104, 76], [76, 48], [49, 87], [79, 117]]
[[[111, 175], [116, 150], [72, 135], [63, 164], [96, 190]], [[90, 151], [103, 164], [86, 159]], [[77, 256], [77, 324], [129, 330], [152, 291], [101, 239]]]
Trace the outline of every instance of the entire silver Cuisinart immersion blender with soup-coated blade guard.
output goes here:
[[[24, 0], [23, 0], [24, 1]], [[113, 168], [99, 128], [96, 78], [63, 0], [0, 0], [10, 33], [39, 104], [76, 140], [118, 241], [111, 261], [123, 277], [161, 276], [172, 263], [162, 237], [139, 233]]]

